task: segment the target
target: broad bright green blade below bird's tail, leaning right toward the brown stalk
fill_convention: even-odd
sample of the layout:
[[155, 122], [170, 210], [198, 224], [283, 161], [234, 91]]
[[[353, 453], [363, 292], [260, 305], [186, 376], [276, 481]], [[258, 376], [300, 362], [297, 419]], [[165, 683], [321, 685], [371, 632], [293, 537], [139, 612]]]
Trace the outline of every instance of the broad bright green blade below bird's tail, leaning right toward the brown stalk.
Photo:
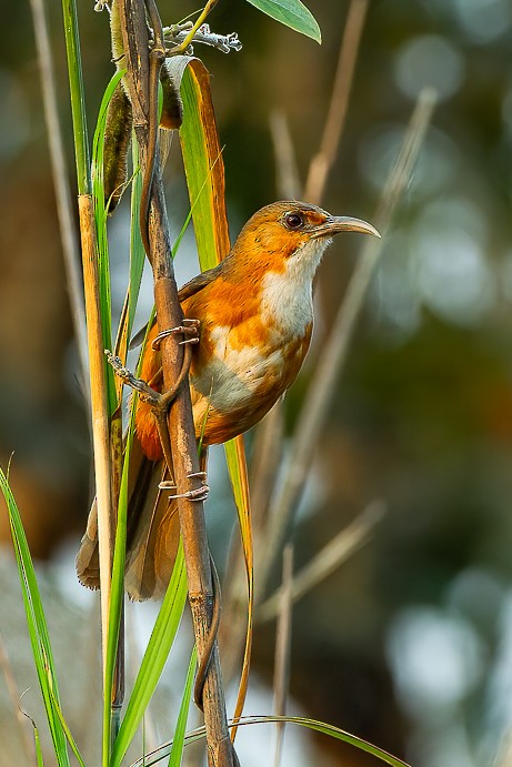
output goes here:
[[142, 658], [121, 729], [113, 745], [110, 760], [111, 767], [118, 767], [121, 764], [121, 759], [127, 753], [154, 693], [174, 642], [181, 616], [183, 615], [185, 599], [187, 573], [183, 547], [180, 543], [171, 581], [154, 623], [144, 657]]

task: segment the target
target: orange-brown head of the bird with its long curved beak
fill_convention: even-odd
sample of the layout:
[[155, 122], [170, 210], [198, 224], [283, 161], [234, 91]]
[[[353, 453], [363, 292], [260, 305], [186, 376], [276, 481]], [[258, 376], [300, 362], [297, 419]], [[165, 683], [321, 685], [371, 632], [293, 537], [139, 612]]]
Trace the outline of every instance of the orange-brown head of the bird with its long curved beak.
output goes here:
[[331, 215], [307, 202], [284, 200], [261, 208], [239, 234], [237, 260], [253, 261], [254, 269], [272, 272], [297, 270], [312, 279], [334, 234], [362, 232], [380, 236], [374, 226], [351, 216]]

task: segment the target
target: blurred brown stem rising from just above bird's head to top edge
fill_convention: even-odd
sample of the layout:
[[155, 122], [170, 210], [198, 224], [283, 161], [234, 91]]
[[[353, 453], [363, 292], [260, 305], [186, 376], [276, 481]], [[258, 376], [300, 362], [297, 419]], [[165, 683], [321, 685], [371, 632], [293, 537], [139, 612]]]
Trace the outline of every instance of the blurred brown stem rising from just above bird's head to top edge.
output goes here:
[[320, 150], [310, 163], [308, 181], [305, 182], [304, 199], [317, 205], [320, 205], [329, 172], [337, 158], [349, 107], [367, 9], [368, 0], [352, 0], [349, 7], [329, 114], [323, 129]]

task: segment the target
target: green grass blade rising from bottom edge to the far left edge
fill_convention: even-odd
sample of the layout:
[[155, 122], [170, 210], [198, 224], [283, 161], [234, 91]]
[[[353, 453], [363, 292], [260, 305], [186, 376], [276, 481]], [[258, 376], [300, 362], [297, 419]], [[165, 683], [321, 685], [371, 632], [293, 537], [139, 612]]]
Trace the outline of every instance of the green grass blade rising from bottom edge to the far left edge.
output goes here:
[[8, 480], [1, 468], [0, 487], [9, 512], [9, 523], [23, 595], [30, 643], [56, 758], [59, 766], [68, 767], [69, 755], [66, 733], [53, 703], [54, 700], [59, 703], [59, 687], [44, 610], [21, 516]]

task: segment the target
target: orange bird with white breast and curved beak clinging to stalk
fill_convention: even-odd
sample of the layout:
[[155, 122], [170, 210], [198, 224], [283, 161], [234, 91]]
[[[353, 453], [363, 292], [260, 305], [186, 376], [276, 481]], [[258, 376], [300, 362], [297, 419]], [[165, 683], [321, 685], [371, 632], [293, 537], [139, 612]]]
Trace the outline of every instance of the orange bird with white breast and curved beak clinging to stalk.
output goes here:
[[[179, 292], [187, 319], [199, 321], [189, 373], [195, 435], [219, 444], [257, 424], [293, 383], [313, 326], [312, 283], [339, 232], [380, 236], [365, 221], [330, 215], [304, 202], [275, 202], [244, 225], [229, 255]], [[143, 352], [141, 377], [159, 380], [160, 354]], [[162, 596], [179, 541], [175, 501], [158, 488], [162, 448], [155, 417], [139, 401], [130, 460], [126, 588], [134, 599]], [[77, 557], [81, 583], [99, 586], [96, 508]]]

